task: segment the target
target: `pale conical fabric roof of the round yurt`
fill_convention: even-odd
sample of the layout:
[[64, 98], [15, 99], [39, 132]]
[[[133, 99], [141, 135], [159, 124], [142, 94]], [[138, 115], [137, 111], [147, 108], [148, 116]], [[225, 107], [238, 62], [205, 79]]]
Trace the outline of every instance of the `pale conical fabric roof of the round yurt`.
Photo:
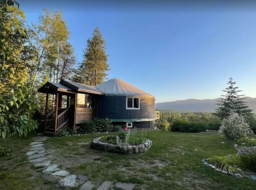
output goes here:
[[106, 95], [115, 95], [115, 96], [126, 96], [126, 97], [146, 97], [146, 98], [154, 98], [154, 96], [150, 95], [147, 92], [144, 92], [133, 85], [118, 79], [113, 78], [101, 84], [95, 86], [95, 88], [105, 92]]

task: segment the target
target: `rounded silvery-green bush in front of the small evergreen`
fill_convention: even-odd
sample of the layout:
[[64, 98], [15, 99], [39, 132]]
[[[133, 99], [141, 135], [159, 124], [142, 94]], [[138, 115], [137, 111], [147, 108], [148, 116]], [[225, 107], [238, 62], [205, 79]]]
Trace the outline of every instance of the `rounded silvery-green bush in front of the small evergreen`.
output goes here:
[[230, 140], [237, 140], [244, 135], [247, 136], [252, 133], [245, 118], [233, 111], [231, 111], [231, 114], [227, 118], [222, 120], [219, 132]]

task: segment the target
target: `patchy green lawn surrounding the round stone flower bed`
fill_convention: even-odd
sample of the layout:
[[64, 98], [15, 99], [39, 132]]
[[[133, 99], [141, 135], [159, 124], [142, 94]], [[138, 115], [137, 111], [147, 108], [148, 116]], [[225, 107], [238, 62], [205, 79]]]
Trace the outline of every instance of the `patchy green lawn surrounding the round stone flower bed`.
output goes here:
[[[105, 180], [137, 184], [135, 189], [255, 189], [256, 181], [223, 175], [206, 167], [203, 158], [236, 153], [234, 142], [216, 133], [149, 131], [153, 147], [145, 153], [119, 155], [90, 148], [102, 134], [53, 137], [44, 147], [52, 163], [71, 174], [87, 175], [98, 187]], [[0, 140], [14, 146], [12, 157], [0, 158], [0, 189], [60, 189], [58, 181], [28, 163], [32, 136]], [[221, 143], [225, 142], [225, 144]], [[79, 187], [76, 187], [79, 189]]]

